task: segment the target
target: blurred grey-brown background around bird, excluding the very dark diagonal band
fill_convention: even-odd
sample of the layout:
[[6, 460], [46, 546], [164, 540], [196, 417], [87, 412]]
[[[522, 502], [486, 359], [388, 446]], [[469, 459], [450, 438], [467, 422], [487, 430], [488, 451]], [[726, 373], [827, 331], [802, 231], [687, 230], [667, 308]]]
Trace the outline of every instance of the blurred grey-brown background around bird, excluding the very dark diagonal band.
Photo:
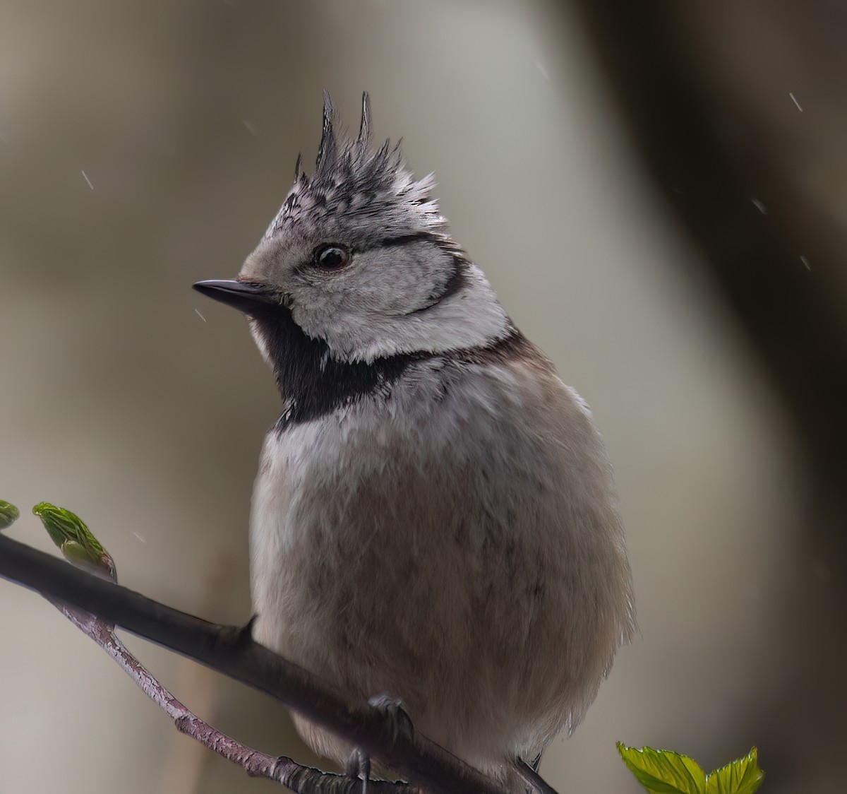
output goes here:
[[[809, 278], [847, 304], [843, 5], [697, 0], [676, 24], [728, 140], [802, 203], [790, 245], [807, 256], [797, 237], [814, 233]], [[298, 152], [308, 170], [324, 86], [354, 129], [368, 90], [377, 136], [435, 170], [455, 236], [588, 400], [615, 465], [640, 634], [542, 773], [624, 794], [639, 789], [617, 740], [706, 769], [756, 744], [768, 794], [843, 791], [842, 547], [820, 540], [843, 512], [810, 496], [792, 417], [595, 63], [582, 18], [544, 0], [3, 0], [11, 534], [50, 548], [29, 508], [57, 503], [126, 586], [246, 621], [252, 479], [280, 399], [244, 320], [191, 283], [235, 275]], [[178, 735], [47, 602], [0, 581], [0, 603], [3, 794], [271, 790]], [[277, 703], [127, 642], [221, 730], [317, 763]]]

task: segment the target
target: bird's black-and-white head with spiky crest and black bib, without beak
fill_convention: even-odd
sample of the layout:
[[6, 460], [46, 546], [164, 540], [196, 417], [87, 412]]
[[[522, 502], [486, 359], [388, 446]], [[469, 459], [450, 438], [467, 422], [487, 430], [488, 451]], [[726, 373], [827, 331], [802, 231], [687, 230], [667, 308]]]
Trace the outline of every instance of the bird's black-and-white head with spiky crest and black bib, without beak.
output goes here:
[[416, 180], [399, 146], [373, 147], [368, 95], [356, 139], [336, 126], [325, 96], [314, 173], [298, 158], [294, 186], [239, 275], [273, 296], [248, 312], [253, 335], [286, 400], [315, 415], [414, 360], [515, 334], [449, 236], [432, 175]]

